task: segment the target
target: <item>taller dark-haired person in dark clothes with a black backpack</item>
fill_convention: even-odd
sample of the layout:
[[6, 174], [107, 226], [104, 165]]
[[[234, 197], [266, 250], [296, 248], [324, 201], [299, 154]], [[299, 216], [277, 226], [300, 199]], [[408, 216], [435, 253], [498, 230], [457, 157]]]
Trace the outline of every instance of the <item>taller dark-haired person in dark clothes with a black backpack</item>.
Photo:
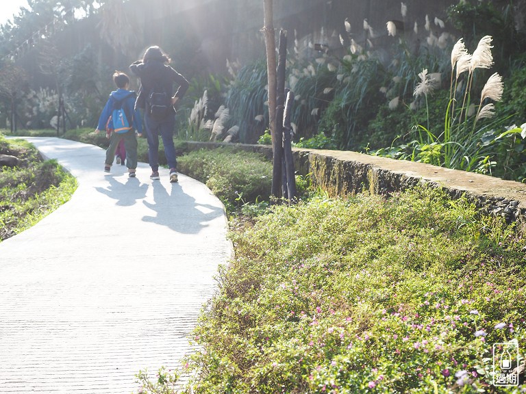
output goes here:
[[[186, 90], [188, 81], [171, 66], [170, 59], [159, 47], [149, 47], [129, 69], [140, 78], [136, 108], [145, 109], [145, 126], [148, 140], [150, 179], [159, 179], [159, 136], [164, 144], [164, 154], [170, 168], [170, 182], [177, 182], [177, 157], [173, 144], [175, 109]], [[173, 85], [178, 88], [173, 94]]]

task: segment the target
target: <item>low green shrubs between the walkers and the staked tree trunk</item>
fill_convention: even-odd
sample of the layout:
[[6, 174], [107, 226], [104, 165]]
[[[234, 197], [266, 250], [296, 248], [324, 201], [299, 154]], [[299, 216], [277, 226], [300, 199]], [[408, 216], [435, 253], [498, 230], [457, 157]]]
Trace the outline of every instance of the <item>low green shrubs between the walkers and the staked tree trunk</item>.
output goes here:
[[180, 172], [205, 183], [227, 210], [268, 201], [272, 164], [262, 155], [232, 148], [196, 150], [177, 159]]

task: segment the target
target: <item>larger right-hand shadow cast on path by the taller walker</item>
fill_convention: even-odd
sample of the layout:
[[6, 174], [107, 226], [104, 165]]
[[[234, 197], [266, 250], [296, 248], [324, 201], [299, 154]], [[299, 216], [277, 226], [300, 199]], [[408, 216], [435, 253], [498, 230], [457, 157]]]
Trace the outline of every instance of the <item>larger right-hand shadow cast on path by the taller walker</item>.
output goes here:
[[198, 204], [195, 198], [184, 193], [179, 183], [171, 183], [171, 194], [168, 194], [160, 182], [154, 182], [153, 204], [142, 203], [155, 213], [142, 220], [167, 226], [178, 233], [198, 234], [208, 226], [207, 222], [223, 215], [220, 207]]

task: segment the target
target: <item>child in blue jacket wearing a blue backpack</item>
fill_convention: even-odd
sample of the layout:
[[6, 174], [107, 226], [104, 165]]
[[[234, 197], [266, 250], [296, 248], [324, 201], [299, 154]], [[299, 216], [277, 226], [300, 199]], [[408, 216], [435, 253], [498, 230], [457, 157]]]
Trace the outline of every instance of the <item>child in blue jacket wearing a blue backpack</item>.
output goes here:
[[140, 112], [134, 109], [136, 94], [129, 88], [129, 77], [125, 73], [116, 71], [113, 75], [113, 81], [117, 87], [110, 94], [110, 98], [106, 102], [104, 109], [99, 117], [99, 124], [95, 133], [105, 129], [105, 125], [108, 123], [108, 119], [112, 116], [114, 109], [122, 107], [125, 116], [129, 122], [129, 129], [116, 130], [109, 135], [110, 146], [106, 150], [106, 159], [104, 162], [104, 171], [110, 172], [110, 168], [113, 164], [115, 157], [115, 150], [121, 142], [124, 140], [124, 146], [126, 150], [126, 166], [128, 168], [128, 176], [134, 178], [136, 176], [137, 168], [137, 135], [142, 135], [142, 119], [140, 118]]

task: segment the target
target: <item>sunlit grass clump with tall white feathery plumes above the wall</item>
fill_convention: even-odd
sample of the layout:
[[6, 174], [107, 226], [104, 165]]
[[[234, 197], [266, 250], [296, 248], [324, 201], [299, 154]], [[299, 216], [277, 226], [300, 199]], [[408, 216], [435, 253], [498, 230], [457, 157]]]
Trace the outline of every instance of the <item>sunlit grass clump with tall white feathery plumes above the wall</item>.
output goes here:
[[517, 167], [521, 166], [514, 163], [512, 168], [510, 161], [514, 155], [523, 155], [524, 144], [517, 140], [522, 130], [507, 127], [510, 116], [491, 120], [495, 106], [486, 101], [501, 101], [501, 76], [497, 73], [491, 75], [479, 94], [478, 104], [472, 103], [477, 98], [477, 95], [471, 93], [475, 71], [490, 68], [493, 64], [491, 41], [490, 36], [482, 38], [473, 54], [468, 53], [462, 38], [453, 47], [449, 101], [445, 109], [444, 127], [440, 133], [436, 133], [439, 130], [436, 127], [430, 129], [428, 103], [428, 96], [438, 83], [425, 69], [419, 74], [421, 81], [414, 89], [414, 96], [425, 103], [427, 124], [416, 126], [416, 144], [405, 144], [395, 151], [384, 149], [371, 153], [484, 174], [514, 174], [520, 180], [523, 170], [518, 170]]

